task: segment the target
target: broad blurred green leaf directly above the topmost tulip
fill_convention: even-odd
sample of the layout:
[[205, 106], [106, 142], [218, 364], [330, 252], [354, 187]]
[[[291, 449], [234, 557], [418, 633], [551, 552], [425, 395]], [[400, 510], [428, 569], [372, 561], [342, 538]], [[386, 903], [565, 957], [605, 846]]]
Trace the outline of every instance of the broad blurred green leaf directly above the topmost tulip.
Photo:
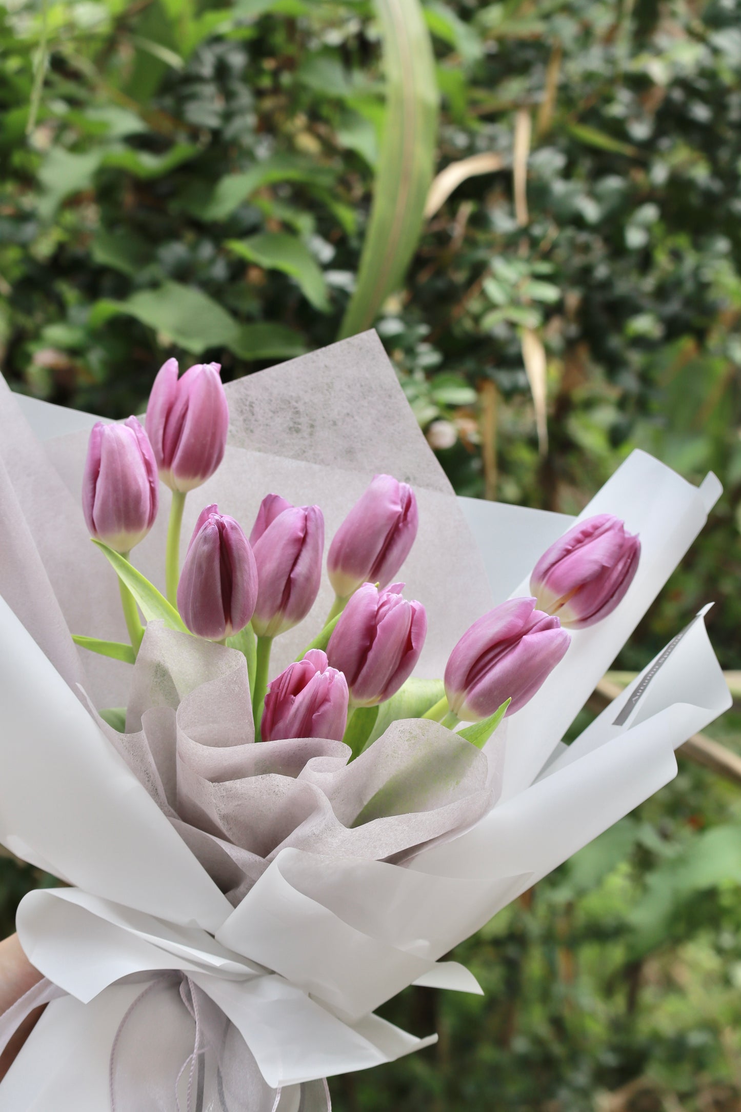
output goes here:
[[126, 301], [98, 301], [90, 324], [96, 328], [116, 314], [136, 317], [193, 355], [239, 341], [240, 328], [231, 314], [202, 290], [176, 281], [139, 290]]

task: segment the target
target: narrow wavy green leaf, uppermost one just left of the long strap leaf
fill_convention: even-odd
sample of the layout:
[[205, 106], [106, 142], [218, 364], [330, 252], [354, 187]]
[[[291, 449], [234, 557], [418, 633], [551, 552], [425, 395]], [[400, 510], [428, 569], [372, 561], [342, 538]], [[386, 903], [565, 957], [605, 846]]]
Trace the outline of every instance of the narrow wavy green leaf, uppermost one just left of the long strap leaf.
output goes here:
[[328, 188], [334, 181], [334, 171], [318, 166], [299, 155], [278, 153], [256, 163], [243, 173], [228, 173], [213, 191], [203, 197], [199, 191], [181, 198], [181, 206], [201, 220], [226, 220], [228, 216], [263, 186], [278, 181], [300, 181]]

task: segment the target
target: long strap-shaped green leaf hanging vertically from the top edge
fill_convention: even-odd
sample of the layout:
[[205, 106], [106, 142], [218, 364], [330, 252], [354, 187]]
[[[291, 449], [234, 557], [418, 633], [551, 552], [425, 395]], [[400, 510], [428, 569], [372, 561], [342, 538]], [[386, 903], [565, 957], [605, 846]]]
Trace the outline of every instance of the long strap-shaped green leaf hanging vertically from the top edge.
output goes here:
[[438, 87], [419, 0], [377, 0], [387, 116], [358, 285], [340, 338], [370, 327], [417, 248], [434, 166]]

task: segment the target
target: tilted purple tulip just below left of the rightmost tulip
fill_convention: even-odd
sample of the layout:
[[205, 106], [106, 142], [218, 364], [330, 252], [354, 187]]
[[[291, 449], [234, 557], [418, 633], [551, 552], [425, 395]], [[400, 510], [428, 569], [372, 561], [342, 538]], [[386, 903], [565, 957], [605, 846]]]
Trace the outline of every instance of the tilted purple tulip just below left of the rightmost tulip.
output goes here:
[[565, 654], [571, 636], [534, 598], [512, 598], [474, 622], [445, 667], [450, 709], [464, 722], [488, 718], [508, 698], [507, 714], [528, 703]]

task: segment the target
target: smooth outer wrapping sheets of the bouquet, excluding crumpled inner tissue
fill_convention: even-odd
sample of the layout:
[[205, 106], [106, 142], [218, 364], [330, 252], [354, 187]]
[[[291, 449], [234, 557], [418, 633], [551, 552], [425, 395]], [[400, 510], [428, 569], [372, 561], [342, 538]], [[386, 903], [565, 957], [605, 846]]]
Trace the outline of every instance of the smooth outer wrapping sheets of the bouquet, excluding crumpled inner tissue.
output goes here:
[[[0, 563], [0, 841], [74, 886], [32, 893], [19, 909], [30, 960], [69, 995], [48, 1006], [0, 1085], [0, 1112], [109, 1106], [111, 1041], [141, 991], [116, 982], [132, 974], [182, 971], [202, 989], [240, 1032], [267, 1085], [283, 1086], [280, 1112], [296, 1109], [301, 1082], [425, 1045], [373, 1010], [410, 983], [479, 991], [465, 970], [440, 957], [665, 784], [675, 773], [673, 748], [730, 704], [700, 618], [548, 763], [717, 497], [713, 477], [697, 490], [634, 453], [584, 513], [609, 510], [641, 533], [639, 574], [614, 614], [575, 634], [535, 699], [490, 742], [490, 763], [505, 751], [497, 805], [401, 864], [278, 848], [233, 907], [76, 686], [98, 707], [122, 705], [129, 678], [113, 662], [82, 661], [67, 633], [124, 636], [114, 579], [77, 505], [89, 420], [24, 401], [42, 448], [19, 431], [10, 399], [0, 401], [8, 434], [0, 480], [9, 490], [0, 505], [14, 505], [26, 529], [14, 547], [3, 546]], [[412, 481], [421, 527], [403, 577], [434, 631], [420, 675], [441, 675], [452, 644], [492, 596], [529, 593], [530, 568], [570, 524], [497, 504], [457, 506], [371, 335], [232, 384], [230, 407], [227, 460], [189, 498], [183, 542], [206, 502], [249, 526], [267, 489], [319, 502], [331, 537], [374, 471]], [[66, 423], [61, 438], [57, 420]], [[37, 485], [46, 477], [44, 492], [29, 493], [19, 459]], [[154, 582], [166, 512], [137, 550]], [[326, 587], [308, 628], [330, 602]], [[278, 643], [276, 671], [310, 639], [307, 627]]]

